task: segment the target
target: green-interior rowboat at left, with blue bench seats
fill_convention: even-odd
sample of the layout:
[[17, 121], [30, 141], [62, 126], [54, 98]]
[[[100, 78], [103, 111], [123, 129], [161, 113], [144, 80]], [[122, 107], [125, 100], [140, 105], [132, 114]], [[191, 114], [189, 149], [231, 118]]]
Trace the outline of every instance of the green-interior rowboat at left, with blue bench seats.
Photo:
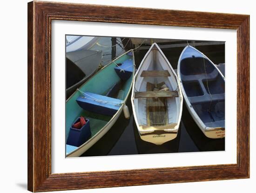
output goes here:
[[[116, 73], [117, 64], [129, 62], [132, 65], [132, 75], [128, 80], [121, 80]], [[121, 68], [120, 68], [121, 69]], [[103, 67], [93, 77], [86, 81], [75, 93], [73, 93], [66, 101], [66, 143], [70, 132], [70, 127], [74, 121], [80, 117], [86, 117], [89, 120], [91, 136], [81, 146], [72, 146], [66, 144], [66, 156], [77, 157], [87, 151], [94, 145], [101, 137], [108, 132], [108, 130], [114, 125], [115, 121], [120, 116], [123, 106], [125, 105], [128, 95], [132, 88], [132, 82], [135, 73], [135, 60], [133, 50], [122, 54], [117, 59]], [[82, 96], [83, 93], [93, 93], [103, 98], [109, 93], [117, 83], [120, 83], [119, 89], [114, 96], [113, 100], [121, 100], [121, 105], [117, 109], [117, 112], [113, 115], [104, 115], [102, 113], [95, 113], [92, 111], [85, 111], [81, 108], [77, 99]]]

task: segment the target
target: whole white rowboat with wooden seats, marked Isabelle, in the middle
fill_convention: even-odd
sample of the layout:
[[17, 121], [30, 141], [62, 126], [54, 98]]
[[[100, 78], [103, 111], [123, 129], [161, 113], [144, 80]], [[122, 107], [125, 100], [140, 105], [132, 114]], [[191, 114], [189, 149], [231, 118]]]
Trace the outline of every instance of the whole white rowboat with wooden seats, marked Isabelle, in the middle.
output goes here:
[[[168, 89], [154, 91], [163, 86]], [[131, 101], [141, 140], [162, 145], [177, 137], [183, 97], [176, 73], [156, 43], [150, 47], [135, 74]]]

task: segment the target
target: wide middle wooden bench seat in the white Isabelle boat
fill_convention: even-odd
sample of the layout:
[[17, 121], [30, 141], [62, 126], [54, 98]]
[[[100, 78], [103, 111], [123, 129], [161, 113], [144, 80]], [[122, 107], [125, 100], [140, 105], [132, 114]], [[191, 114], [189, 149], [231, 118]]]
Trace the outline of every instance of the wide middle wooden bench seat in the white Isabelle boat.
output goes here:
[[177, 91], [146, 91], [135, 92], [135, 98], [154, 98], [154, 97], [178, 97]]

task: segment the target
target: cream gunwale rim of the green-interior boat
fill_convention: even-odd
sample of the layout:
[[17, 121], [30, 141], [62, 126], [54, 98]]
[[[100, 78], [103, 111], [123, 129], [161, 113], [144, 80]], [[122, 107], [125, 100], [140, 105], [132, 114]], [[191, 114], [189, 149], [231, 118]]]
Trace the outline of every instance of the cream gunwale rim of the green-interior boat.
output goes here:
[[[122, 110], [123, 106], [125, 105], [125, 103], [126, 103], [126, 101], [127, 101], [127, 99], [128, 99], [129, 93], [130, 93], [131, 90], [132, 90], [132, 85], [133, 85], [133, 81], [134, 81], [134, 74], [135, 74], [135, 57], [134, 57], [133, 49], [128, 50], [126, 53], [123, 53], [122, 55], [120, 55], [118, 58], [115, 59], [115, 60], [118, 60], [118, 59], [120, 59], [122, 56], [124, 56], [125, 54], [127, 54], [127, 53], [129, 53], [129, 52], [132, 52], [132, 53], [133, 53], [132, 59], [133, 59], [133, 64], [134, 64], [134, 68], [133, 68], [134, 70], [133, 70], [133, 74], [132, 74], [132, 82], [131, 82], [130, 88], [129, 88], [129, 90], [128, 90], [128, 93], [127, 93], [125, 99], [123, 100], [124, 103], [122, 103], [122, 105], [120, 106], [119, 110], [112, 116], [112, 118], [108, 121], [108, 123], [107, 123], [105, 126], [103, 126], [103, 127], [101, 128], [100, 131], [98, 131], [96, 134], [94, 134], [93, 137], [91, 137], [88, 141], [86, 141], [85, 143], [83, 143], [81, 146], [79, 146], [79, 147], [77, 147], [76, 149], [74, 149], [72, 152], [66, 153], [66, 158], [71, 157], [73, 153], [75, 153], [76, 151], [78, 151], [78, 150], [81, 149], [82, 147], [86, 146], [90, 141], [92, 141], [94, 138], [96, 138], [96, 136], [98, 136], [98, 135], [112, 122], [112, 120], [115, 119], [116, 115]], [[115, 60], [112, 60], [111, 62], [109, 62], [106, 66], [102, 67], [101, 70], [103, 70], [103, 68], [105, 68], [105, 67], [109, 66], [110, 64], [112, 64]], [[101, 70], [99, 70], [97, 73], [99, 73]], [[94, 75], [96, 75], [97, 73], [95, 73]], [[92, 77], [91, 77], [91, 78], [92, 78]], [[90, 78], [90, 79], [91, 79], [91, 78]], [[88, 80], [90, 80], [90, 79], [88, 79]], [[88, 80], [87, 80], [86, 82], [88, 82]], [[85, 82], [84, 84], [86, 84], [86, 82]], [[84, 84], [83, 84], [83, 85], [84, 85]], [[82, 87], [83, 85], [81, 85], [81, 87]], [[81, 87], [80, 87], [80, 88], [81, 88]], [[76, 92], [77, 92], [77, 91], [76, 91]], [[74, 93], [75, 93], [75, 92], [74, 92]], [[74, 93], [73, 93], [71, 96], [73, 96]], [[71, 96], [70, 96], [70, 97], [71, 97]], [[68, 100], [70, 99], [70, 97], [68, 98]], [[66, 101], [66, 103], [67, 103], [67, 101]], [[109, 128], [109, 129], [110, 129], [110, 128]], [[66, 131], [65, 131], [65, 132], [66, 132]], [[65, 144], [65, 145], [66, 145], [66, 144]], [[66, 146], [65, 146], [65, 149], [66, 149]]]

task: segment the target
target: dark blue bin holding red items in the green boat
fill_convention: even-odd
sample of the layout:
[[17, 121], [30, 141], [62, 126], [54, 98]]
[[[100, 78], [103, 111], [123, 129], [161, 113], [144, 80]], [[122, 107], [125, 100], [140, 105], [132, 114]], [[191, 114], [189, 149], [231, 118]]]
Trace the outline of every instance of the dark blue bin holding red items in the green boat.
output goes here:
[[91, 129], [90, 129], [90, 121], [86, 120], [86, 124], [81, 127], [81, 129], [73, 128], [72, 126], [80, 121], [80, 117], [74, 121], [72, 126], [70, 127], [70, 131], [67, 138], [67, 145], [70, 146], [81, 146], [91, 137]]

